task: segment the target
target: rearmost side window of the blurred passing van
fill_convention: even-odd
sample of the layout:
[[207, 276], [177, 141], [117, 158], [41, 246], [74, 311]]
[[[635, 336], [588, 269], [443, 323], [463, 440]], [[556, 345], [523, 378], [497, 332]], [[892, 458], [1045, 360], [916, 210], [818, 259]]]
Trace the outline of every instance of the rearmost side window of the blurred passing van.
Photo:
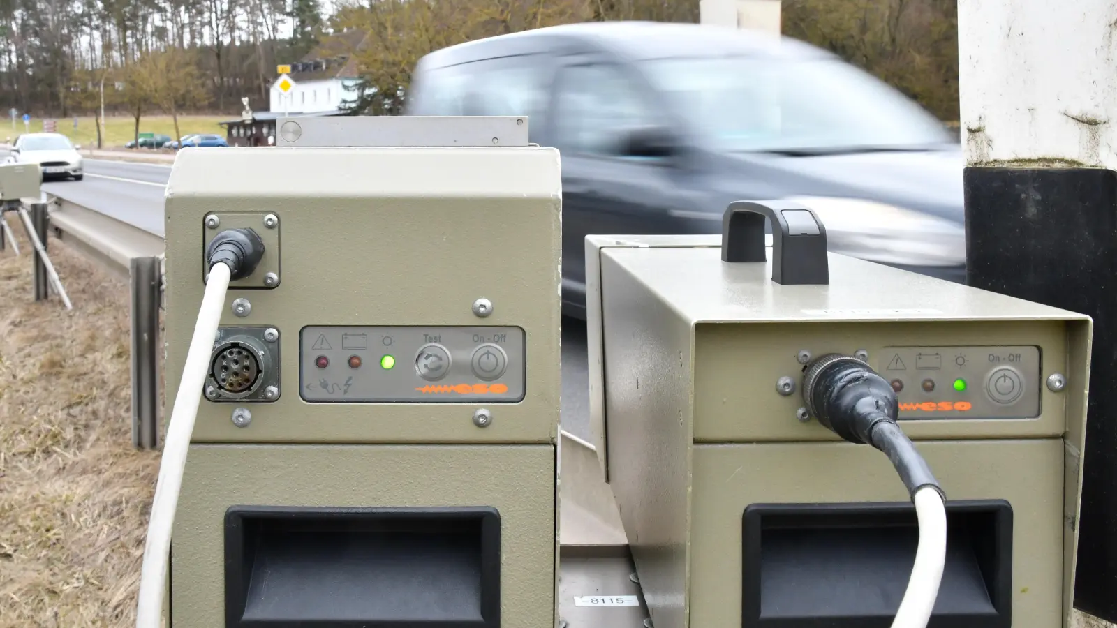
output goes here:
[[543, 55], [486, 59], [417, 77], [409, 115], [526, 115], [538, 142], [546, 125], [550, 67]]

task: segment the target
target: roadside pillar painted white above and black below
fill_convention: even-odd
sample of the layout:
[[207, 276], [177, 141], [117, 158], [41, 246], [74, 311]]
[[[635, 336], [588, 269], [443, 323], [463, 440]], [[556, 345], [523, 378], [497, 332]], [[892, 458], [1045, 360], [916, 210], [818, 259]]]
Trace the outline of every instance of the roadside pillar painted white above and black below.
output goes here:
[[966, 282], [1094, 317], [1073, 602], [1117, 621], [1117, 3], [960, 0], [958, 47]]

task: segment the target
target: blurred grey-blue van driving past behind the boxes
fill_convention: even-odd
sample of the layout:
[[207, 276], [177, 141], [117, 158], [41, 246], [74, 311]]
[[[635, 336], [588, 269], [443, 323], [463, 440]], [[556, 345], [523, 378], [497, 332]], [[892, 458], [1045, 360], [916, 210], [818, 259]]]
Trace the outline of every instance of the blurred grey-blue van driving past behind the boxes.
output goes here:
[[526, 115], [562, 152], [563, 308], [591, 234], [717, 234], [736, 200], [796, 199], [830, 250], [962, 282], [961, 145], [914, 102], [786, 37], [593, 22], [445, 48], [409, 115]]

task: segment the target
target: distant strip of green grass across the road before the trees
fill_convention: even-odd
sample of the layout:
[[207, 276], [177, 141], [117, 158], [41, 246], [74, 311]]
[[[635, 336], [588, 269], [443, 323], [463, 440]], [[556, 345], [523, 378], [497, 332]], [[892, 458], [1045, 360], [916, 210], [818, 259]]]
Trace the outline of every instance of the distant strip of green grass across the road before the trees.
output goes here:
[[[180, 115], [179, 132], [182, 135], [188, 133], [217, 133], [225, 136], [225, 129], [218, 126], [218, 122], [232, 120], [236, 115]], [[70, 139], [75, 144], [80, 144], [83, 149], [97, 148], [97, 123], [94, 117], [78, 117], [77, 129], [74, 127], [74, 118], [54, 118], [55, 131]], [[42, 132], [41, 118], [32, 118], [30, 129], [32, 133]], [[23, 133], [23, 123], [16, 121], [16, 129], [10, 125], [0, 131], [0, 139]], [[141, 133], [155, 133], [176, 139], [174, 135], [174, 121], [169, 115], [151, 115], [140, 118]], [[130, 116], [105, 117], [105, 149], [121, 148], [126, 142], [131, 142], [135, 136], [135, 121]]]

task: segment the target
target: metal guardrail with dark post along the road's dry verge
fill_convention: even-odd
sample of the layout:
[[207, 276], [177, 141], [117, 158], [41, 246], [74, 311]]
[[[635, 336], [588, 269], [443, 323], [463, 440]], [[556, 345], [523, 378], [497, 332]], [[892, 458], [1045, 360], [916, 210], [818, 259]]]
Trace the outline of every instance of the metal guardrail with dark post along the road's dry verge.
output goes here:
[[132, 327], [132, 444], [159, 446], [159, 339], [163, 238], [48, 194], [55, 237], [128, 280]]

